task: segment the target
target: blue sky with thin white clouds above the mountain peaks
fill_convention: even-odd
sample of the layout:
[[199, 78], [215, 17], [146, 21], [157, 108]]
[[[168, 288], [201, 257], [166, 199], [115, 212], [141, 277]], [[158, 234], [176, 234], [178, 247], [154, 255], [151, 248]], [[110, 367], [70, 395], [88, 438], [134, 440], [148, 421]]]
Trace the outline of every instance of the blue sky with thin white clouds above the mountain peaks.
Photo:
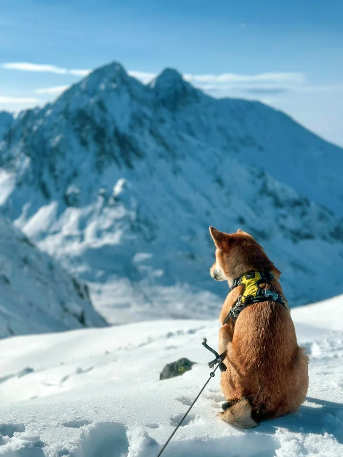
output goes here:
[[342, 0], [0, 0], [0, 110], [43, 105], [119, 61], [261, 100], [343, 146]]

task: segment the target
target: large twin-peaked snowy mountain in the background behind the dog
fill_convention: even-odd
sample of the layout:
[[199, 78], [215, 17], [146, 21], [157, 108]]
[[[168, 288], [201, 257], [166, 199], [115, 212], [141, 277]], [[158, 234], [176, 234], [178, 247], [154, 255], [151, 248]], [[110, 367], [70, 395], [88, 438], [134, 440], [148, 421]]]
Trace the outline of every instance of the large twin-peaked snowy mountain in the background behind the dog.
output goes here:
[[216, 315], [209, 225], [255, 236], [294, 306], [343, 290], [342, 152], [259, 102], [114, 62], [18, 116], [0, 206], [111, 322]]

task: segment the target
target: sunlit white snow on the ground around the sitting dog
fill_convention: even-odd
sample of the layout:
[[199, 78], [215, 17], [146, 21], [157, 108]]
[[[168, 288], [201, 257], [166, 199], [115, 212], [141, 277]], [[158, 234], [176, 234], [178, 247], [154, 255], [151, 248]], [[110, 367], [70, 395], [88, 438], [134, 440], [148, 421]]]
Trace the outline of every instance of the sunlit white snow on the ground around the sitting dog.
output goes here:
[[[300, 409], [256, 429], [230, 427], [217, 417], [216, 375], [164, 456], [343, 455], [343, 297], [292, 314], [310, 356]], [[0, 455], [157, 456], [208, 378], [212, 355], [201, 341], [215, 346], [218, 330], [217, 321], [163, 320], [1, 340]], [[196, 365], [159, 381], [180, 357]]]

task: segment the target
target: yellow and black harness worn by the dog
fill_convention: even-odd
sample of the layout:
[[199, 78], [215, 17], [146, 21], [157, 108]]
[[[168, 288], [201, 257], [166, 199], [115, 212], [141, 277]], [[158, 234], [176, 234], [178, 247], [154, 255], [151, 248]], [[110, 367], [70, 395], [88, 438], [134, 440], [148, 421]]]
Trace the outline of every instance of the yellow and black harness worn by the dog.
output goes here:
[[254, 303], [273, 301], [287, 308], [278, 293], [272, 292], [269, 289], [260, 289], [260, 284], [274, 278], [275, 276], [271, 273], [271, 271], [268, 271], [267, 273], [264, 271], [249, 271], [241, 277], [234, 279], [230, 292], [237, 286], [244, 286], [244, 291], [243, 294], [238, 297], [236, 303], [232, 306], [231, 310], [225, 317], [224, 324], [227, 324], [231, 317], [233, 322], [235, 322], [239, 313], [241, 313], [241, 311], [247, 306]]

